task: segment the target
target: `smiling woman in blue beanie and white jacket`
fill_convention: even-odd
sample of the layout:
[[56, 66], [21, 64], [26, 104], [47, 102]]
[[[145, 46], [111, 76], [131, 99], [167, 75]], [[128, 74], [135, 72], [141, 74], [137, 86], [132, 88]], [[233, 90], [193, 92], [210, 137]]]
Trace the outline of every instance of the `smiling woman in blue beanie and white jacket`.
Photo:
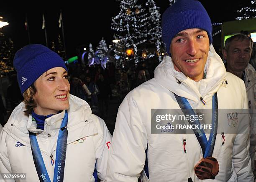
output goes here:
[[69, 94], [61, 57], [27, 45], [13, 63], [24, 101], [1, 132], [0, 173], [26, 174], [16, 182], [105, 181], [111, 135], [87, 102]]

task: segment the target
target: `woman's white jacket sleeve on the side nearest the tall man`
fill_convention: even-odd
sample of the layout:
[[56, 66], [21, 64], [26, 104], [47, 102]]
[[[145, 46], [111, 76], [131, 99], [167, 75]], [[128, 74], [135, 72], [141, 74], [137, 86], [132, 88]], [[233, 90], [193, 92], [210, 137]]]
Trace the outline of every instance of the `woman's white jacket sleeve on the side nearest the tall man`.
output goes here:
[[109, 147], [112, 140], [112, 136], [108, 131], [105, 122], [97, 117], [98, 134], [94, 137], [95, 143], [95, 157], [96, 157], [96, 170], [97, 176], [101, 182], [106, 181], [107, 162]]

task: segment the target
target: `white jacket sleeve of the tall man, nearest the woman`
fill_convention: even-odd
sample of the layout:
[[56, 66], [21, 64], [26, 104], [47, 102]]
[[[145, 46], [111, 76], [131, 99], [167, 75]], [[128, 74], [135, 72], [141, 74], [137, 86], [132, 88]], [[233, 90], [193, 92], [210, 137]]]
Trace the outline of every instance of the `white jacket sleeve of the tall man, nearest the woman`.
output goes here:
[[147, 147], [136, 101], [125, 97], [119, 107], [107, 167], [108, 182], [137, 182], [145, 165]]

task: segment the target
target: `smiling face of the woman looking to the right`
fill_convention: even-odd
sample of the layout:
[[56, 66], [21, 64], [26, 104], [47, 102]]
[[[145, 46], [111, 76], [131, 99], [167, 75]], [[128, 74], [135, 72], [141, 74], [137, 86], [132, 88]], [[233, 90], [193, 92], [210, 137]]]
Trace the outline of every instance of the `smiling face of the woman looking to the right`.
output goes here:
[[34, 112], [38, 115], [56, 114], [69, 108], [70, 90], [67, 71], [63, 67], [54, 67], [44, 72], [34, 82], [36, 94], [33, 96], [37, 106]]

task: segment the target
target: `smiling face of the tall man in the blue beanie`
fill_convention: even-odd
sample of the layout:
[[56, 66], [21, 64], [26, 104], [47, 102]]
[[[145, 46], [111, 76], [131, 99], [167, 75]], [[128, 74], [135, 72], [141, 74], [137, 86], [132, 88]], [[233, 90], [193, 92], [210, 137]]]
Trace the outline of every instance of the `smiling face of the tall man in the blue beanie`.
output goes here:
[[192, 28], [179, 32], [170, 45], [174, 69], [196, 82], [201, 80], [209, 50], [210, 42], [205, 30]]

